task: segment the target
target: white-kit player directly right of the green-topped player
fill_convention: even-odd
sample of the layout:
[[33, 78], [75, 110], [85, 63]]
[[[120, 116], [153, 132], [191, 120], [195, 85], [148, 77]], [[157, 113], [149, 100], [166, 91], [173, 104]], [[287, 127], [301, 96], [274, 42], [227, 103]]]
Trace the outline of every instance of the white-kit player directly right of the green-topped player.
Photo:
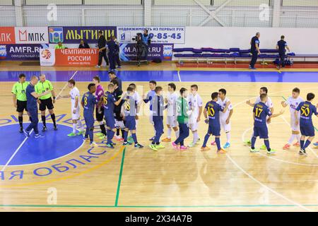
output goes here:
[[191, 109], [191, 115], [189, 117], [189, 125], [193, 134], [193, 141], [189, 144], [189, 147], [194, 147], [196, 142], [199, 141], [198, 127], [202, 114], [202, 99], [198, 94], [198, 85], [191, 85], [191, 94], [189, 95], [189, 107]]

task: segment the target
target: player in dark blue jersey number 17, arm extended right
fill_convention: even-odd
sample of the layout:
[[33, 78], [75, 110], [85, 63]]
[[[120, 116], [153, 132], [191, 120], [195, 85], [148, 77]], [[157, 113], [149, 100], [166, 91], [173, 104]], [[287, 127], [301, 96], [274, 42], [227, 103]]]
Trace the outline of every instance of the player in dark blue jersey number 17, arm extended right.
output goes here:
[[[266, 106], [266, 102], [268, 100], [267, 94], [263, 93], [260, 96], [261, 102], [258, 102], [254, 105], [253, 109], [253, 118], [254, 118], [254, 133], [252, 136], [252, 144], [251, 144], [251, 153], [259, 152], [259, 149], [255, 148], [255, 142], [257, 140], [257, 136], [259, 138], [264, 139], [264, 144], [266, 145], [267, 154], [273, 154], [276, 151], [269, 147], [269, 130], [266, 126], [266, 121], [271, 120], [271, 118], [278, 117], [283, 114], [283, 110], [278, 114], [271, 114], [271, 109]], [[269, 117], [269, 118], [266, 118]]]

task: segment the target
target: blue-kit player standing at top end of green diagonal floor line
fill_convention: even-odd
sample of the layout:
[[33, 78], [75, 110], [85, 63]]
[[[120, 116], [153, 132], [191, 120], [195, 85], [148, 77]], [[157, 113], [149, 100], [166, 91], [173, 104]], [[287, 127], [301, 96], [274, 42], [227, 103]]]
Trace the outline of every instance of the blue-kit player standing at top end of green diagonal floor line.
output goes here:
[[124, 104], [122, 105], [122, 115], [125, 121], [124, 129], [124, 143], [123, 145], [131, 145], [127, 141], [128, 131], [131, 132], [131, 137], [134, 140], [135, 148], [143, 148], [143, 145], [138, 143], [136, 136], [136, 106], [137, 100], [134, 99], [134, 88], [129, 86], [127, 88], [126, 97], [124, 98]]

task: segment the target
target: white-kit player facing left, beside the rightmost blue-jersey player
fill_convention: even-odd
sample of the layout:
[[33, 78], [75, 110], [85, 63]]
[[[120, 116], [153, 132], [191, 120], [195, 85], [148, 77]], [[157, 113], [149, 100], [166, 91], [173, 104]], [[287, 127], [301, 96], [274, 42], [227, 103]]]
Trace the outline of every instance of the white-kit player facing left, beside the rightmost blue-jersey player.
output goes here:
[[[283, 150], [289, 150], [290, 145], [292, 145], [293, 141], [296, 139], [297, 142], [294, 143], [294, 146], [300, 146], [300, 124], [296, 124], [296, 118], [295, 118], [295, 110], [300, 104], [300, 102], [303, 102], [302, 97], [300, 95], [300, 89], [294, 88], [293, 93], [291, 97], [288, 97], [286, 101], [282, 101], [281, 105], [283, 107], [289, 106], [290, 110], [290, 128], [292, 129], [292, 135], [289, 138], [288, 143], [286, 143], [283, 146]], [[300, 121], [300, 112], [298, 112], [298, 121]]]

